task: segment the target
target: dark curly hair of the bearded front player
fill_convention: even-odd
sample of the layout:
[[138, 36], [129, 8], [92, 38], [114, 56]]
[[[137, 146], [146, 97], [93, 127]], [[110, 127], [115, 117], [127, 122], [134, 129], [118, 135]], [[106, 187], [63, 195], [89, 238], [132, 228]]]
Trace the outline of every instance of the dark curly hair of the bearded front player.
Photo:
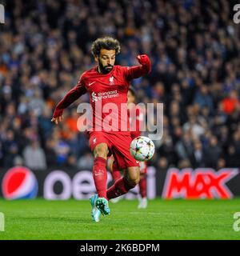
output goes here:
[[101, 49], [106, 50], [115, 50], [116, 54], [120, 53], [120, 43], [117, 39], [106, 37], [106, 38], [98, 38], [92, 44], [91, 50], [94, 56], [98, 56], [100, 54]]

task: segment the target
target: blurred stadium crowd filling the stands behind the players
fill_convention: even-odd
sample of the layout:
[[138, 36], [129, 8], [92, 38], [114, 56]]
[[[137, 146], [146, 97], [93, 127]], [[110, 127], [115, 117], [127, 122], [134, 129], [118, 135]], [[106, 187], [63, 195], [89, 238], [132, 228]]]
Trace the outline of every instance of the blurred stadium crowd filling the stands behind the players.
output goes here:
[[[240, 166], [240, 26], [230, 1], [38, 0], [3, 2], [0, 25], [0, 166], [90, 169], [79, 98], [50, 122], [55, 104], [94, 65], [91, 43], [118, 38], [117, 63], [148, 54], [150, 75], [134, 81], [138, 102], [164, 103], [164, 135], [151, 164]], [[156, 120], [155, 120], [156, 122]]]

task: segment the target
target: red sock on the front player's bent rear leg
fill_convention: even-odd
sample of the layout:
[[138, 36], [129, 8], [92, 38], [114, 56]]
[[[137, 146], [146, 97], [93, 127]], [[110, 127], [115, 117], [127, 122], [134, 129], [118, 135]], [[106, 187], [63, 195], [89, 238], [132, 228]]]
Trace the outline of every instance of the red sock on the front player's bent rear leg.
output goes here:
[[106, 197], [108, 200], [118, 198], [120, 195], [126, 194], [130, 189], [134, 188], [134, 186], [135, 185], [130, 184], [125, 177], [119, 178], [118, 181], [106, 191]]

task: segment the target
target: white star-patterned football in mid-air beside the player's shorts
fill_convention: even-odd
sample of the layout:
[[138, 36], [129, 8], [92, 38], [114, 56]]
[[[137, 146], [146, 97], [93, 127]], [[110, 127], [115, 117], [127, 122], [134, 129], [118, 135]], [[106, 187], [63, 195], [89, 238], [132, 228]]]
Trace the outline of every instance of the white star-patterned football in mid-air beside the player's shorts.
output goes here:
[[154, 142], [145, 136], [138, 136], [130, 144], [130, 154], [138, 161], [145, 162], [153, 157]]

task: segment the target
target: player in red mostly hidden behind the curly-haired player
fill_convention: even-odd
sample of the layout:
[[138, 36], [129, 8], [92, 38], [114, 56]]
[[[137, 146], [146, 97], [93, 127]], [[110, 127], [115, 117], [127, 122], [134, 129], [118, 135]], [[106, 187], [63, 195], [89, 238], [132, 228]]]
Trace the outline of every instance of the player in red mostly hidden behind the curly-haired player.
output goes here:
[[[129, 110], [129, 116], [130, 116], [130, 136], [132, 139], [137, 138], [141, 135], [141, 122], [143, 122], [143, 110], [135, 106], [135, 91], [132, 86], [130, 86], [128, 93], [127, 93], [127, 108]], [[134, 114], [130, 114], [130, 112], [133, 111]], [[138, 183], [139, 185], [139, 204], [138, 208], [146, 208], [147, 206], [147, 198], [146, 198], [146, 162], [139, 162], [140, 165], [140, 181]], [[110, 159], [110, 170], [114, 179], [114, 182], [117, 182], [119, 178], [121, 178], [122, 174], [121, 171], [118, 170], [116, 162], [114, 162], [114, 158], [111, 157]], [[121, 197], [118, 197], [119, 199]], [[118, 202], [118, 198], [114, 198], [112, 202]]]

